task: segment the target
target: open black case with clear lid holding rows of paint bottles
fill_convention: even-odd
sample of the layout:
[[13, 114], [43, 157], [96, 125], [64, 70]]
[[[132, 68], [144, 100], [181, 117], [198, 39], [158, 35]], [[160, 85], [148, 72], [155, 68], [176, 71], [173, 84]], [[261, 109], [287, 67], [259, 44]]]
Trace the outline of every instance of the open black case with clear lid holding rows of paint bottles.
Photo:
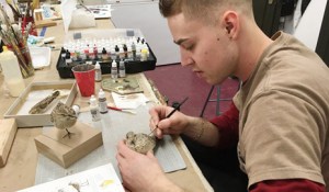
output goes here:
[[[75, 36], [76, 34], [71, 35]], [[147, 57], [141, 58], [140, 52], [137, 54], [133, 54], [132, 56], [132, 49], [129, 48], [128, 53], [124, 52], [115, 52], [114, 47], [116, 45], [122, 46], [126, 44], [127, 46], [132, 46], [132, 38], [136, 41], [136, 38], [143, 39], [143, 44], [146, 45], [148, 48]], [[129, 39], [129, 41], [128, 41]], [[111, 66], [113, 59], [116, 60], [117, 66], [120, 66], [120, 60], [124, 60], [125, 63], [125, 69], [126, 74], [137, 74], [143, 72], [146, 70], [154, 70], [156, 68], [157, 58], [149, 47], [149, 45], [145, 42], [145, 38], [139, 30], [128, 30], [128, 29], [115, 29], [115, 30], [107, 30], [107, 31], [93, 31], [90, 33], [81, 34], [80, 39], [71, 39], [70, 35], [65, 39], [67, 42], [64, 47], [61, 48], [61, 52], [59, 54], [58, 60], [57, 60], [57, 71], [60, 78], [75, 78], [72, 72], [72, 67], [76, 65], [83, 65], [83, 64], [93, 64], [95, 65], [98, 61], [101, 66], [102, 74], [111, 74]], [[86, 43], [88, 42], [88, 43]], [[97, 43], [95, 43], [97, 42]], [[101, 42], [101, 43], [100, 43]], [[109, 47], [107, 52], [109, 57], [107, 59], [103, 59], [100, 55], [92, 56], [92, 57], [81, 57], [81, 58], [75, 58], [72, 61], [67, 63], [66, 58], [63, 56], [65, 54], [64, 52], [69, 50], [69, 53], [72, 53], [72, 58], [76, 57], [75, 53], [78, 50], [80, 53], [83, 53], [83, 47], [86, 47], [86, 44], [88, 44], [88, 47], [90, 50], [92, 49], [92, 46], [95, 44], [101, 44], [98, 47], [98, 53], [100, 53], [100, 48]], [[79, 48], [77, 48], [79, 46]], [[136, 44], [137, 47], [137, 44]], [[87, 49], [88, 49], [87, 48]], [[84, 54], [86, 55], [86, 54]], [[128, 56], [129, 55], [129, 56]], [[84, 58], [86, 57], [86, 58]]]

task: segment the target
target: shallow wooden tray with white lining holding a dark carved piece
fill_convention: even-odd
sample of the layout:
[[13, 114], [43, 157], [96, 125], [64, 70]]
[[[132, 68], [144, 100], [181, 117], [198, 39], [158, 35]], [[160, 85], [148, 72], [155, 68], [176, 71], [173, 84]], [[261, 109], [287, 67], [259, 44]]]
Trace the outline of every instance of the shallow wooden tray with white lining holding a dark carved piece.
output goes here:
[[[32, 82], [30, 86], [22, 92], [22, 94], [14, 101], [14, 103], [4, 113], [4, 118], [15, 118], [18, 127], [35, 127], [35, 126], [46, 126], [53, 125], [50, 122], [50, 112], [56, 106], [56, 102], [52, 103], [49, 109], [42, 114], [29, 114], [31, 108], [26, 108], [29, 94], [34, 91], [53, 91], [53, 90], [67, 90], [69, 91], [68, 95], [60, 99], [67, 105], [71, 105], [77, 91], [77, 86], [75, 81], [56, 81], [56, 82]], [[34, 101], [34, 104], [43, 100], [44, 97], [37, 98]], [[32, 101], [29, 102], [30, 105]], [[34, 105], [32, 104], [32, 105]]]

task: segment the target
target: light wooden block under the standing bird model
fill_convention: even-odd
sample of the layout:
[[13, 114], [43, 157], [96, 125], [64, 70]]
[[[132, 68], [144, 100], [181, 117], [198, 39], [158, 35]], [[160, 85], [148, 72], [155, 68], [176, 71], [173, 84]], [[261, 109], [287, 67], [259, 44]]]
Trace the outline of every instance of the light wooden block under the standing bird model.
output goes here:
[[70, 138], [63, 138], [66, 131], [52, 127], [49, 132], [35, 137], [37, 151], [68, 168], [103, 144], [101, 131], [87, 124], [77, 122], [69, 132], [73, 133]]

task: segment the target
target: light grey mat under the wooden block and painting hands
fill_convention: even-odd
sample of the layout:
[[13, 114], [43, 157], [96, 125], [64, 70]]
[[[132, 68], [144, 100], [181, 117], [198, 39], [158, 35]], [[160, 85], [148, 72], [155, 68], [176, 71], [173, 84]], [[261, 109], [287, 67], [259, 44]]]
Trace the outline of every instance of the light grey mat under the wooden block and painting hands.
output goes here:
[[[35, 184], [52, 181], [64, 176], [88, 170], [109, 162], [112, 162], [116, 173], [120, 176], [117, 161], [115, 159], [116, 145], [121, 139], [125, 138], [126, 133], [129, 131], [135, 133], [150, 132], [148, 127], [149, 108], [150, 103], [139, 106], [135, 110], [136, 115], [117, 111], [109, 111], [106, 114], [101, 114], [102, 120], [99, 122], [92, 122], [91, 114], [89, 112], [81, 113], [79, 115], [79, 121], [102, 131], [103, 146], [97, 148], [67, 169], [60, 167], [47, 157], [39, 155]], [[44, 129], [46, 128], [49, 127], [44, 127]], [[157, 144], [155, 156], [158, 158], [164, 172], [172, 172], [186, 168], [183, 158], [170, 136], [166, 136]]]

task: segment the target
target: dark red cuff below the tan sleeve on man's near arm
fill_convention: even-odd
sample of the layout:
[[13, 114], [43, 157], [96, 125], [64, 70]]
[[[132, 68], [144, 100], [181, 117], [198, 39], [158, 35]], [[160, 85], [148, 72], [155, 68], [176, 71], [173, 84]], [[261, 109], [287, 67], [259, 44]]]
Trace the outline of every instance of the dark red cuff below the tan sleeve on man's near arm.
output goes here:
[[266, 180], [250, 187], [250, 192], [325, 192], [324, 184], [307, 179]]

